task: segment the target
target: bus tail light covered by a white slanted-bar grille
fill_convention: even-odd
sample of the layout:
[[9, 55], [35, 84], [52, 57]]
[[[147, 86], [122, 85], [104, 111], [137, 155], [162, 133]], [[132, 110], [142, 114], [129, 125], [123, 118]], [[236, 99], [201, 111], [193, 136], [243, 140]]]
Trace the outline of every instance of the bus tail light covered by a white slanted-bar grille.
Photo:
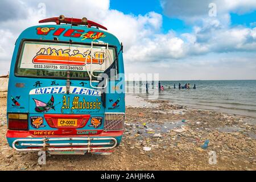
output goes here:
[[121, 131], [125, 126], [125, 113], [105, 113], [104, 131]]

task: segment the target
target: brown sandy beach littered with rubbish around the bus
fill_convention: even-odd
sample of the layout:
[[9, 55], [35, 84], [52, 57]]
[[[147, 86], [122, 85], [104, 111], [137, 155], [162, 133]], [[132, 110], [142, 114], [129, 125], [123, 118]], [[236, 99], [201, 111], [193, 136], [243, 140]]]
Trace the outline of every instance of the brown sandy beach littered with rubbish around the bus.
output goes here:
[[254, 118], [136, 96], [126, 96], [125, 133], [112, 155], [48, 155], [39, 166], [37, 153], [8, 146], [5, 96], [0, 103], [0, 170], [256, 169]]

